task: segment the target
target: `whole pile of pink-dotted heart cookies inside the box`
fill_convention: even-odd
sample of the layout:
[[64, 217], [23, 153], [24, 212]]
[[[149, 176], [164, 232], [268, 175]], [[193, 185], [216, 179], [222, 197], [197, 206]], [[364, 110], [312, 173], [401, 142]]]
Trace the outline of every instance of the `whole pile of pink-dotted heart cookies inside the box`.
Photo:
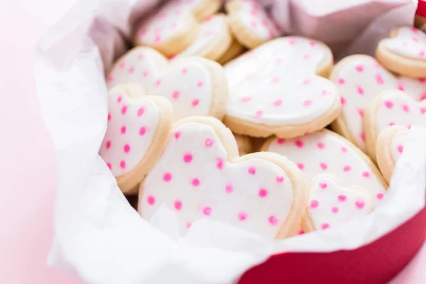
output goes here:
[[99, 154], [121, 190], [146, 219], [176, 212], [182, 234], [212, 218], [283, 239], [372, 212], [426, 120], [425, 33], [334, 66], [324, 43], [278, 38], [256, 1], [221, 4], [168, 1], [109, 72]]

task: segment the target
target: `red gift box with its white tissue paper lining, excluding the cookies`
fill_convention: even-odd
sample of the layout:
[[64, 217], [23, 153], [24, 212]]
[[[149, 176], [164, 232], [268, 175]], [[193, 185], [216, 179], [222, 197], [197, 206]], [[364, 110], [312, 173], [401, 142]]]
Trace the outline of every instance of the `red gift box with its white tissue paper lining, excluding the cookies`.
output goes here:
[[[285, 34], [327, 43], [337, 58], [373, 55], [413, 1], [260, 1]], [[173, 212], [147, 221], [98, 151], [107, 128], [104, 75], [158, 1], [80, 1], [38, 44], [35, 80], [58, 161], [49, 262], [88, 283], [386, 283], [426, 237], [426, 133], [413, 126], [386, 199], [365, 219], [283, 241], [202, 219], [180, 237]], [[360, 16], [361, 15], [361, 16]], [[338, 27], [338, 28], [337, 28]]]

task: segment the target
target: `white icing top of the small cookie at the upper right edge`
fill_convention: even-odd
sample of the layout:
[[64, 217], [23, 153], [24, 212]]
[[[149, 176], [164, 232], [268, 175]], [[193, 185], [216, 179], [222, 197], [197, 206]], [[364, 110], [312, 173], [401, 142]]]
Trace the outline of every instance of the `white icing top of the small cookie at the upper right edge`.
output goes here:
[[402, 27], [386, 40], [386, 48], [408, 58], [426, 59], [426, 34], [417, 28]]

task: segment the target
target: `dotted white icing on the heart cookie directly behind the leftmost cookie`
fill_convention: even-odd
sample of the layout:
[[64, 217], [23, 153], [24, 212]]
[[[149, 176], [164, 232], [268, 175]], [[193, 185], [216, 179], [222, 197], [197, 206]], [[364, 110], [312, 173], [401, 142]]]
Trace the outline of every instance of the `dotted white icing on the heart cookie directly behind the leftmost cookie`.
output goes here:
[[170, 100], [176, 120], [187, 116], [207, 116], [213, 92], [207, 67], [188, 58], [160, 70], [154, 60], [155, 53], [155, 50], [146, 48], [130, 50], [111, 70], [107, 78], [108, 87], [131, 82], [141, 84], [146, 94]]

